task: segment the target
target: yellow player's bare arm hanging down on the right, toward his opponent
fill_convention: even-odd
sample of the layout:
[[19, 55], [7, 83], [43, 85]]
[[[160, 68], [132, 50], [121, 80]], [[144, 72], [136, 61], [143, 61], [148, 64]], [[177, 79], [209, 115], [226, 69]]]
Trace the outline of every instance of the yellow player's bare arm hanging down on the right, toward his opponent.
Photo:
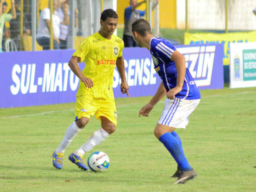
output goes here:
[[125, 73], [125, 68], [124, 68], [124, 60], [123, 60], [123, 56], [121, 57], [117, 57], [116, 59], [116, 68], [120, 74], [121, 77], [121, 92], [124, 94], [126, 93], [128, 95], [128, 97], [130, 97], [129, 93], [128, 93], [128, 89], [129, 89], [129, 85], [126, 81], [126, 73]]

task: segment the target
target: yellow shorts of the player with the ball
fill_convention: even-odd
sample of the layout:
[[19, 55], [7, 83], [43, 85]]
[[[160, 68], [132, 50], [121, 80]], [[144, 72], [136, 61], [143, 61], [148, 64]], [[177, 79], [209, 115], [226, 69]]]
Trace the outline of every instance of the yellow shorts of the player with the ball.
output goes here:
[[[109, 121], [116, 126], [116, 104], [115, 100], [106, 100], [102, 98], [90, 97], [88, 95], [81, 95], [76, 97], [75, 106], [76, 120], [81, 117], [95, 116], [96, 119], [100, 119], [100, 116], [107, 117]], [[101, 119], [100, 119], [101, 122]]]

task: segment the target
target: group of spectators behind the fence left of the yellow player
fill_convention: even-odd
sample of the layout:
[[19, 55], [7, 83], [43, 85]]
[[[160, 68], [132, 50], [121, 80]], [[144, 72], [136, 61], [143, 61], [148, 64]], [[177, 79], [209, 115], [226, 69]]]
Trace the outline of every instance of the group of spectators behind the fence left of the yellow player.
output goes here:
[[[24, 0], [26, 4], [28, 0]], [[30, 1], [31, 2], [31, 1]], [[30, 3], [29, 2], [29, 3]], [[0, 52], [6, 50], [7, 42], [13, 41], [14, 51], [24, 50], [21, 41], [21, 1], [11, 0], [11, 9], [8, 4], [0, 0]], [[23, 6], [25, 7], [25, 6]], [[52, 25], [54, 35], [54, 49], [67, 49], [67, 37], [69, 34], [69, 0], [53, 0]], [[78, 26], [78, 9], [75, 11], [75, 27]], [[24, 10], [23, 37], [31, 36], [31, 10]], [[50, 49], [50, 5], [40, 11], [36, 41], [43, 50]]]

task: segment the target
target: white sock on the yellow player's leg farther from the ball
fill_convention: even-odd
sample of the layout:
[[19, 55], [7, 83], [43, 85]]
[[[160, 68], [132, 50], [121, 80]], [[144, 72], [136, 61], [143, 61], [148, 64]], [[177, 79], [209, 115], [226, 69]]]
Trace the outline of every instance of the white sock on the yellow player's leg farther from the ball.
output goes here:
[[73, 138], [76, 137], [76, 134], [81, 130], [82, 129], [78, 128], [75, 121], [71, 123], [71, 125], [66, 130], [66, 133], [62, 142], [60, 143], [59, 147], [56, 149], [55, 152], [64, 153], [65, 149], [69, 146]]

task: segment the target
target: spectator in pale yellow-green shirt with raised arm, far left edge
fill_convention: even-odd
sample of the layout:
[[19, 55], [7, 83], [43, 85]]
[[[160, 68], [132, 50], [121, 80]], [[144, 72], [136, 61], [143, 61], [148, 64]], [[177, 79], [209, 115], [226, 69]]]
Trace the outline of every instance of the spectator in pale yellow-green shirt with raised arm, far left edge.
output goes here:
[[3, 28], [5, 26], [5, 21], [10, 22], [11, 19], [16, 18], [16, 10], [14, 0], [12, 2], [12, 14], [5, 14], [7, 9], [7, 3], [5, 0], [0, 0], [0, 52], [2, 52], [2, 36], [3, 36]]

